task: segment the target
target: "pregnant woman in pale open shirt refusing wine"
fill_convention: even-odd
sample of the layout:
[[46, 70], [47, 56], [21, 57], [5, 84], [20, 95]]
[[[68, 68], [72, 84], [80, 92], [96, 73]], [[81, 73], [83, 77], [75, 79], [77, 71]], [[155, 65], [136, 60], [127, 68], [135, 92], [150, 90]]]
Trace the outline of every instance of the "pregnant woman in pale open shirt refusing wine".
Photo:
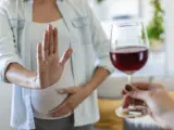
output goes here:
[[108, 39], [87, 0], [3, 0], [0, 78], [13, 84], [11, 126], [91, 130], [97, 87], [110, 75]]

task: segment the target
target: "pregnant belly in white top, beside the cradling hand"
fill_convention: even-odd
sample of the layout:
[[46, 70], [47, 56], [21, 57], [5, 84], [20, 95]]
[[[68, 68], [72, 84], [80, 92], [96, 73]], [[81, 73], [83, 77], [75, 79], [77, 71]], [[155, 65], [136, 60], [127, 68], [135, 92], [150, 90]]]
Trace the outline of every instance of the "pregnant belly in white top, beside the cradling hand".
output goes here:
[[55, 87], [45, 90], [33, 90], [32, 105], [36, 113], [48, 114], [51, 109], [59, 106], [66, 96], [66, 94], [58, 93]]

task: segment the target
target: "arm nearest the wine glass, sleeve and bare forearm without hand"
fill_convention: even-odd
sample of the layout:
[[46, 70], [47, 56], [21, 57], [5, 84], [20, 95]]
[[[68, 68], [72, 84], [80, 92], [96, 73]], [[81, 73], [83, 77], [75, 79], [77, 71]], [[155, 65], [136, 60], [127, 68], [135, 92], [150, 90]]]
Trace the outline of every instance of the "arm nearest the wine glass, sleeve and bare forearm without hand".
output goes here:
[[98, 56], [98, 64], [91, 80], [87, 83], [88, 90], [94, 91], [99, 87], [99, 84], [105, 80], [105, 78], [114, 70], [110, 62], [109, 51], [110, 44], [109, 40], [100, 25], [99, 20], [95, 16], [88, 3], [85, 3], [86, 10], [88, 12], [88, 17], [91, 21], [91, 32], [94, 47]]

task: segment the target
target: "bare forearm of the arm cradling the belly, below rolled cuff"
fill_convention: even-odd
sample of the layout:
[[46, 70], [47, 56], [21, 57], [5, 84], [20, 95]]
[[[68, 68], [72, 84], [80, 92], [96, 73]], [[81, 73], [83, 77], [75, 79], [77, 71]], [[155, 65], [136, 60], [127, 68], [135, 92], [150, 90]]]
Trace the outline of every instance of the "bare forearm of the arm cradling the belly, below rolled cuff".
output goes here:
[[104, 80], [105, 78], [110, 75], [110, 73], [102, 68], [102, 67], [98, 67], [96, 68], [96, 72], [91, 78], [91, 80], [87, 83], [87, 88], [89, 90], [89, 92], [92, 92], [94, 90], [96, 90]]

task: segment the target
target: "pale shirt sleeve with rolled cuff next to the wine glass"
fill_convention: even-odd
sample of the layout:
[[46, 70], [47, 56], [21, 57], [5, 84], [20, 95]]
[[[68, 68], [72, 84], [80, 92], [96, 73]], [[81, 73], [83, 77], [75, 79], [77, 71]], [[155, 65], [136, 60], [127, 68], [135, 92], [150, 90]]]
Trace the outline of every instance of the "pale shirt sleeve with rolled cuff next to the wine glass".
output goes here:
[[97, 18], [95, 13], [91, 11], [91, 8], [88, 3], [88, 0], [85, 1], [85, 6], [87, 8], [87, 14], [91, 22], [91, 32], [92, 32], [92, 42], [98, 56], [97, 66], [108, 69], [110, 73], [113, 73], [114, 67], [110, 61], [110, 42], [107, 38], [107, 35], [101, 26], [100, 21]]

